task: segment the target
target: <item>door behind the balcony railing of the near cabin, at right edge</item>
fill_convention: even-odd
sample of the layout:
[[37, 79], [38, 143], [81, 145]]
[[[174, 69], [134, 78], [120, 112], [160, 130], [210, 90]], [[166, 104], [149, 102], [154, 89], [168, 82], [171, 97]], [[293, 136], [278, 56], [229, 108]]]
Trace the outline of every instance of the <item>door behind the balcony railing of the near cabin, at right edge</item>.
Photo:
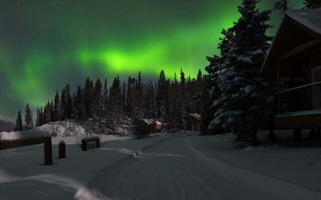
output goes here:
[[[311, 82], [321, 81], [321, 66], [311, 68]], [[321, 86], [316, 84], [312, 86], [312, 106], [313, 110], [321, 109]]]

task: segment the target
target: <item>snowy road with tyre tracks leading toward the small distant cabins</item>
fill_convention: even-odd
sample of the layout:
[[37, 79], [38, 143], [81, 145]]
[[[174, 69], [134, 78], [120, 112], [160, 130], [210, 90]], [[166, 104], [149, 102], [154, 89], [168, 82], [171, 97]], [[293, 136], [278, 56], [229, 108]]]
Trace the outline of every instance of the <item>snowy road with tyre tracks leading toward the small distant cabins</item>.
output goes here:
[[77, 199], [321, 199], [298, 184], [232, 166], [169, 137], [104, 168]]

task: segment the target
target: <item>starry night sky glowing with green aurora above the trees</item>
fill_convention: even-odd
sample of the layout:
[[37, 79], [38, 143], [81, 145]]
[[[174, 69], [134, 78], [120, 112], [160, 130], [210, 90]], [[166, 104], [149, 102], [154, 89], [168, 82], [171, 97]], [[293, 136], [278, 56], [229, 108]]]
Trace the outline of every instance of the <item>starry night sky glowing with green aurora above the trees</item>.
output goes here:
[[[271, 7], [262, 0], [259, 7]], [[155, 80], [183, 67], [195, 76], [218, 53], [222, 28], [239, 17], [241, 0], [1, 0], [0, 116], [34, 109], [67, 83], [72, 89], [107, 76], [109, 85], [141, 70]], [[292, 0], [293, 8], [302, 0]], [[270, 24], [278, 26], [273, 13]], [[275, 28], [268, 34], [274, 35]], [[34, 114], [35, 117], [35, 114]]]

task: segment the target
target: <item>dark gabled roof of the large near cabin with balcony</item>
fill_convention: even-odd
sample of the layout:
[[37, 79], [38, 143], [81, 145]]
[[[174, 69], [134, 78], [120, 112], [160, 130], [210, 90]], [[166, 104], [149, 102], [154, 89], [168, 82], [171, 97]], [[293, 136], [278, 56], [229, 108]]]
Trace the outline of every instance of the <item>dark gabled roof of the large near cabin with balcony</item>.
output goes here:
[[[321, 9], [286, 10], [262, 65], [261, 73], [275, 75], [276, 64], [282, 55], [313, 40], [321, 40]], [[296, 76], [299, 71], [292, 70], [289, 73], [292, 73], [290, 76]]]

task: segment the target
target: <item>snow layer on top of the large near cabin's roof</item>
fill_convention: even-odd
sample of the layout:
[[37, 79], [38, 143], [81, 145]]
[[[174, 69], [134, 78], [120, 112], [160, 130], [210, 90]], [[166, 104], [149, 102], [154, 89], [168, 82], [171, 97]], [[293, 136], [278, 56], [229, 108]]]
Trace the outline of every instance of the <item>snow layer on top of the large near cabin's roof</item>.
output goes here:
[[313, 30], [321, 34], [321, 8], [317, 9], [289, 9], [285, 14]]

